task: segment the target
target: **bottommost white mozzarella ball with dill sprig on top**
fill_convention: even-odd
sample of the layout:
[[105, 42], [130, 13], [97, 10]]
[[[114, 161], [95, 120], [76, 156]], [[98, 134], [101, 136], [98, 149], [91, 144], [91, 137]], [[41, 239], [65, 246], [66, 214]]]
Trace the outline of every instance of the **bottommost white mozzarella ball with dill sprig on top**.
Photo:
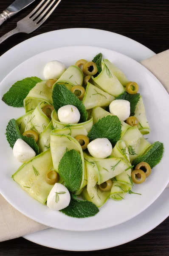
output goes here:
[[70, 203], [70, 193], [68, 189], [60, 184], [55, 183], [47, 198], [47, 206], [55, 211], [66, 208]]

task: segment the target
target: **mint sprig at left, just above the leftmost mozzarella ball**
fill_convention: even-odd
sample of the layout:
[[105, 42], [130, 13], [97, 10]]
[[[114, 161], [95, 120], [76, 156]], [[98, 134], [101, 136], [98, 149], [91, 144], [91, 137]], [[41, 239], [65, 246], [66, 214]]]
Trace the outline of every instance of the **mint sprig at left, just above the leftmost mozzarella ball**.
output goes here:
[[9, 145], [11, 148], [14, 147], [15, 142], [17, 139], [22, 139], [27, 143], [34, 151], [36, 154], [39, 154], [39, 148], [35, 140], [31, 137], [26, 137], [20, 134], [20, 129], [17, 125], [17, 121], [15, 119], [11, 119], [8, 122], [8, 125], [6, 127], [6, 138], [8, 140]]

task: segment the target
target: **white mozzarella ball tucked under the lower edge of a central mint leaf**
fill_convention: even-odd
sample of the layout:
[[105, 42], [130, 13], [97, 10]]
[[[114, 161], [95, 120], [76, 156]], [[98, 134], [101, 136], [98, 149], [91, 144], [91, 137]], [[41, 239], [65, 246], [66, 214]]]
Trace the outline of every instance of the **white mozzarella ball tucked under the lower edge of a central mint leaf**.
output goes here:
[[112, 153], [112, 144], [107, 138], [96, 139], [87, 145], [87, 149], [92, 157], [106, 158]]

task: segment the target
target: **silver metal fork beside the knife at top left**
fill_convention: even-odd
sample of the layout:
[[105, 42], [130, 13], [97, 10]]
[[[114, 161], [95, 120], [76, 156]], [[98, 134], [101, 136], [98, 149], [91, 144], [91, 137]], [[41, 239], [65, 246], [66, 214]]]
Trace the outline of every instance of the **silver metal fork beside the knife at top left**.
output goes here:
[[[57, 3], [56, 3], [57, 1]], [[3, 35], [0, 38], [0, 44], [5, 41], [7, 38], [9, 38], [11, 35], [15, 35], [17, 33], [26, 33], [26, 34], [30, 34], [31, 32], [33, 32], [34, 30], [36, 30], [37, 28], [39, 28], [39, 26], [41, 26], [47, 19], [48, 17], [52, 14], [52, 12], [54, 12], [54, 10], [56, 9], [56, 7], [59, 5], [59, 3], [61, 2], [61, 0], [47, 0], [45, 3], [45, 0], [42, 0], [37, 7], [29, 14], [27, 15], [25, 18], [23, 18], [22, 20], [19, 20], [17, 22], [17, 27], [11, 31], [9, 31], [8, 33], [6, 33], [5, 35]], [[51, 2], [51, 3], [50, 3]], [[50, 3], [50, 4], [49, 4]], [[54, 3], [56, 3], [54, 5]], [[43, 5], [42, 5], [43, 4]], [[48, 5], [49, 4], [49, 5]], [[45, 9], [45, 7], [48, 5], [48, 7]], [[53, 6], [54, 5], [54, 6]], [[41, 7], [42, 6], [42, 7]], [[53, 6], [53, 7], [52, 7]], [[41, 8], [40, 8], [41, 7]], [[48, 10], [52, 7], [52, 9], [50, 10], [50, 12], [48, 12]], [[40, 8], [40, 9], [39, 9]], [[39, 10], [38, 10], [39, 9]], [[42, 13], [41, 13], [42, 12]], [[47, 13], [48, 12], [48, 13]]]

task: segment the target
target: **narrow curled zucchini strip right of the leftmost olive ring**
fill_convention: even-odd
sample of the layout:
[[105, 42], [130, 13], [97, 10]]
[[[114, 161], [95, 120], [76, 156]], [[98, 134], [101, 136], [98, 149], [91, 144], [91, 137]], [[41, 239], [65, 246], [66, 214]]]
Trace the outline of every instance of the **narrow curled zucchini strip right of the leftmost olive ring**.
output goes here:
[[51, 131], [53, 129], [52, 121], [47, 125], [44, 131], [39, 135], [37, 145], [39, 146], [39, 152], [44, 152], [50, 148]]

